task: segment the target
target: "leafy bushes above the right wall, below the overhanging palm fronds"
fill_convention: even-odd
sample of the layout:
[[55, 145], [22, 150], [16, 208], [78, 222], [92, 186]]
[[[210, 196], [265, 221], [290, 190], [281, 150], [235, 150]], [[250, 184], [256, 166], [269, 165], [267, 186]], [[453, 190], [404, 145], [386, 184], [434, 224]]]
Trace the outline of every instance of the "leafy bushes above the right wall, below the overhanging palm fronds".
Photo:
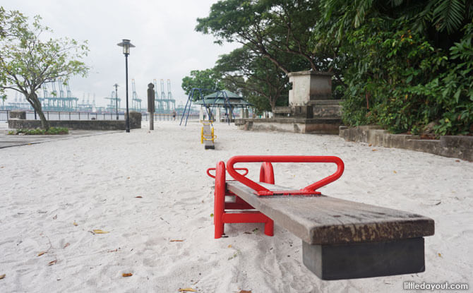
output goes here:
[[430, 122], [437, 135], [471, 131], [472, 25], [445, 55], [409, 23], [372, 19], [347, 35], [354, 54], [343, 102], [346, 124], [380, 124], [394, 133], [420, 133]]

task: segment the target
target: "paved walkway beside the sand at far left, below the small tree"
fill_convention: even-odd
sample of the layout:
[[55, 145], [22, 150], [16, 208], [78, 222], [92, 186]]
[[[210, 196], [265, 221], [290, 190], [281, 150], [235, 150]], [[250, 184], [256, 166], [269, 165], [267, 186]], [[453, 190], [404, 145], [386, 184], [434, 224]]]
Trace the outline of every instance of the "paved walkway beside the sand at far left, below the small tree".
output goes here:
[[116, 133], [122, 131], [87, 131], [70, 130], [69, 134], [56, 136], [10, 136], [8, 135], [8, 124], [0, 121], [0, 148], [10, 148], [18, 145], [32, 145], [35, 143], [47, 143], [49, 141], [80, 138], [85, 136], [99, 136], [101, 134]]

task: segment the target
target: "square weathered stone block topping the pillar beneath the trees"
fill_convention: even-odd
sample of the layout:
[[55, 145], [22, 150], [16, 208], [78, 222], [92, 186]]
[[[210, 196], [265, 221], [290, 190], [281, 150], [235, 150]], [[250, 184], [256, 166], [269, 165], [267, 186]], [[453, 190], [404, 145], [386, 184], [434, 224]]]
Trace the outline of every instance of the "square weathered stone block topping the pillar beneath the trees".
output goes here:
[[330, 100], [332, 73], [316, 71], [290, 72], [289, 107], [311, 105], [313, 100]]

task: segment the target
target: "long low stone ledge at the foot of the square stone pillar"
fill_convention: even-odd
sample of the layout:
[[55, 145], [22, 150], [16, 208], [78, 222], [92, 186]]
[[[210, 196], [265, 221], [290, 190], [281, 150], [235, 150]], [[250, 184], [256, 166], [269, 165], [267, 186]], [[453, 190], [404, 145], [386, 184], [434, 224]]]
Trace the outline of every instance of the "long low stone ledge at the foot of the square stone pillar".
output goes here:
[[235, 119], [239, 129], [248, 131], [283, 131], [294, 133], [338, 134], [341, 119], [268, 118]]

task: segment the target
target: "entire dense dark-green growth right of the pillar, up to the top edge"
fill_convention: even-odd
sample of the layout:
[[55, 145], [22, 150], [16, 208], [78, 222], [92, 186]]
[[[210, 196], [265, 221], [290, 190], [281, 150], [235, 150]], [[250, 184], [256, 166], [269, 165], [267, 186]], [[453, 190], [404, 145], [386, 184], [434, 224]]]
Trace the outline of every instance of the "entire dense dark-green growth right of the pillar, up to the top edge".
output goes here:
[[345, 56], [345, 63], [335, 60], [346, 85], [345, 124], [472, 133], [472, 0], [321, 4], [325, 18], [312, 42]]

